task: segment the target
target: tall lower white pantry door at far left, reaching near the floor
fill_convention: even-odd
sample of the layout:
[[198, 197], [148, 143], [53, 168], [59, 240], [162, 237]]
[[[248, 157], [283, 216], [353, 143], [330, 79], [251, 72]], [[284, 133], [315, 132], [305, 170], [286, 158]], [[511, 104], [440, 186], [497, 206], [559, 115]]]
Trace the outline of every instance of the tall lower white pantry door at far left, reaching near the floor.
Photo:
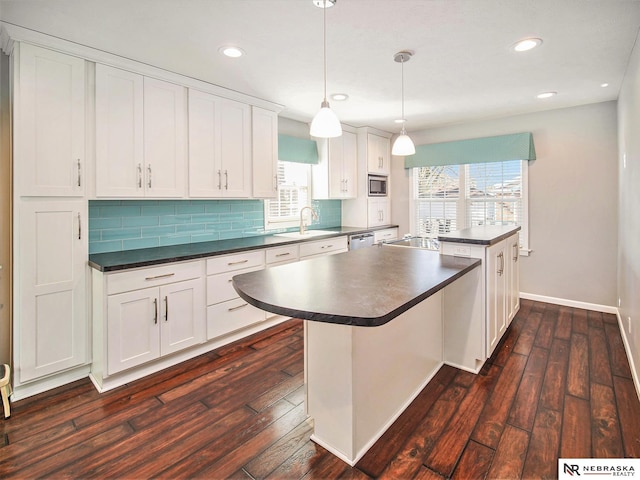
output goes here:
[[15, 329], [20, 382], [87, 362], [87, 204], [19, 205]]

